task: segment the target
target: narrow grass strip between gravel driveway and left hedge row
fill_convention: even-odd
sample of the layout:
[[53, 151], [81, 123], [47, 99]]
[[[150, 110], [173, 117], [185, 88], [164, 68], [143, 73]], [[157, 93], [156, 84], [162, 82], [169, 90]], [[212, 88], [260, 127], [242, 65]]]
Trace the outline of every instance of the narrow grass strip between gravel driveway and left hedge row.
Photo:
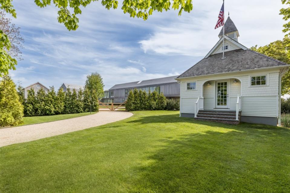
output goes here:
[[[95, 114], [96, 112], [92, 112]], [[35, 116], [35, 117], [23, 117], [23, 123], [17, 125], [31, 125], [37, 123], [46, 123], [51, 121], [59, 121], [64, 119], [71, 119], [76, 117], [82, 117], [85, 115], [90, 115], [90, 113], [76, 113], [76, 114], [58, 114], [58, 115], [51, 115], [51, 116]]]

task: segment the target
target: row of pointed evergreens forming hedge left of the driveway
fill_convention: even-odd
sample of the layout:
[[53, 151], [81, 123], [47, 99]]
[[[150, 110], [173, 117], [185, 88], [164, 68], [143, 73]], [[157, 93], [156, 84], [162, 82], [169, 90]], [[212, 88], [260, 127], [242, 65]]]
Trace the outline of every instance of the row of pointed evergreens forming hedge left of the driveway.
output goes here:
[[[35, 94], [31, 88], [28, 90], [27, 100], [23, 105], [24, 116], [90, 112], [87, 90], [77, 92], [73, 89], [73, 92], [71, 92], [70, 89], [67, 89], [67, 92], [63, 92], [63, 89], [60, 88], [56, 93], [54, 87], [51, 87], [48, 93], [45, 93], [44, 89], [41, 88]], [[92, 105], [92, 111], [99, 111], [98, 99]]]

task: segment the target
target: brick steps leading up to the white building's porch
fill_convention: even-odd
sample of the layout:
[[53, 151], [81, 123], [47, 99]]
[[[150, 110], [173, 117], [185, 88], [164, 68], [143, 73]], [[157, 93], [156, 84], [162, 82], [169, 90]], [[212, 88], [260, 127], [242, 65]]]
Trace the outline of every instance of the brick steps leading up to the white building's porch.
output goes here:
[[239, 124], [241, 112], [239, 112], [239, 121], [236, 120], [236, 111], [213, 111], [200, 110], [197, 113], [197, 120], [216, 121], [228, 124]]

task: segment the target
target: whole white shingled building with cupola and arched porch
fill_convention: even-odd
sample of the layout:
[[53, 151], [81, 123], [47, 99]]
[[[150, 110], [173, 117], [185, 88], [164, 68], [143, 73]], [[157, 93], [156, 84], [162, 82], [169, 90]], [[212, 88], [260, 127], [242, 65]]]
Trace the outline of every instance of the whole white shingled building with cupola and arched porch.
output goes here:
[[280, 125], [281, 78], [289, 65], [238, 42], [230, 19], [210, 52], [176, 78], [180, 82], [180, 116], [200, 120]]

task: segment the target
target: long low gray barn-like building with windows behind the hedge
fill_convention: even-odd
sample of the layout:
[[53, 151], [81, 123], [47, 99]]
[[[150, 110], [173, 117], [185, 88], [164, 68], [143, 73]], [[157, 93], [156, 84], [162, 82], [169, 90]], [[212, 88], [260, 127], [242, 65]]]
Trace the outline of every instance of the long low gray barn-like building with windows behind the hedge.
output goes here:
[[159, 79], [142, 80], [114, 85], [112, 88], [104, 92], [102, 102], [122, 103], [127, 100], [130, 90], [137, 88], [146, 92], [163, 93], [166, 98], [179, 98], [180, 85], [175, 80], [177, 76], [170, 76]]

